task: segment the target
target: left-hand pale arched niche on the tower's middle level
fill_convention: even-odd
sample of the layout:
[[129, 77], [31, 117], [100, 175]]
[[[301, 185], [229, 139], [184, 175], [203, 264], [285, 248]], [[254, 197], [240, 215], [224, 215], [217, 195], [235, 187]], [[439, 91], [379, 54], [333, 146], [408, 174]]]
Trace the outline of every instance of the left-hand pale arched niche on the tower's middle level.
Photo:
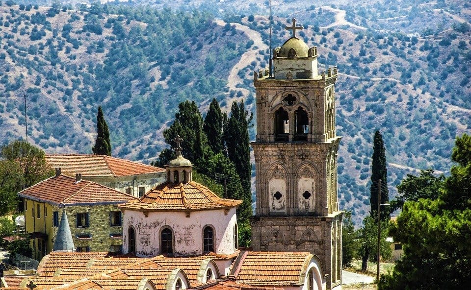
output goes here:
[[280, 165], [272, 166], [266, 176], [268, 177], [268, 202], [270, 213], [286, 214], [287, 203], [287, 176], [286, 169]]

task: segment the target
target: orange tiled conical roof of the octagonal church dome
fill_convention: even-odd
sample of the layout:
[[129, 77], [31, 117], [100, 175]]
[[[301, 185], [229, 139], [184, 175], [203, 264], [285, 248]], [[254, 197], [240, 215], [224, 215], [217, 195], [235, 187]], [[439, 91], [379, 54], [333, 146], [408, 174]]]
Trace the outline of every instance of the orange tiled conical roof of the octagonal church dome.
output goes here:
[[119, 206], [139, 211], [198, 211], [233, 208], [241, 203], [241, 200], [220, 198], [206, 186], [192, 181], [184, 184], [160, 184], [140, 200]]

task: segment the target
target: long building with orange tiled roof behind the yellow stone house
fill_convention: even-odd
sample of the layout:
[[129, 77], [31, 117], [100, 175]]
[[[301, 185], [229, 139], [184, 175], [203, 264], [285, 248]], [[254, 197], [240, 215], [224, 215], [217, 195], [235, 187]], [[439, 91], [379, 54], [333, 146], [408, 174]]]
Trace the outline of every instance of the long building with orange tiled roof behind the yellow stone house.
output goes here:
[[107, 155], [46, 154], [47, 164], [69, 176], [100, 183], [117, 191], [141, 197], [165, 181], [165, 169]]

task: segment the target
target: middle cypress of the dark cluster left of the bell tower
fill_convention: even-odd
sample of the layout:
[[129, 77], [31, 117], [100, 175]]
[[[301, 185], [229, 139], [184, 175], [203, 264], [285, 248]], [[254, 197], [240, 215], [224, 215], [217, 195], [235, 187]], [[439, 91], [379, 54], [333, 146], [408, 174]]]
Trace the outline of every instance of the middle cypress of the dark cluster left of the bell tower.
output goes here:
[[208, 136], [208, 145], [212, 151], [217, 154], [224, 150], [224, 135], [222, 131], [223, 114], [215, 98], [209, 105], [208, 114], [206, 114], [203, 131]]

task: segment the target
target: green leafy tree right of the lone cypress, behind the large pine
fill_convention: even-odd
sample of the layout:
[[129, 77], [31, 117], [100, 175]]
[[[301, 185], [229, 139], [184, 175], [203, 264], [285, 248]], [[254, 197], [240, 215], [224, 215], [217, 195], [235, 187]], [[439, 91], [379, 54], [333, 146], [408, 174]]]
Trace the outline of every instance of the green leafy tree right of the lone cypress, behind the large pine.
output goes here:
[[394, 210], [402, 209], [404, 202], [408, 200], [418, 201], [419, 198], [438, 198], [444, 189], [445, 176], [436, 177], [432, 169], [421, 170], [419, 176], [407, 174], [407, 178], [402, 180], [397, 186], [397, 195], [391, 206]]

